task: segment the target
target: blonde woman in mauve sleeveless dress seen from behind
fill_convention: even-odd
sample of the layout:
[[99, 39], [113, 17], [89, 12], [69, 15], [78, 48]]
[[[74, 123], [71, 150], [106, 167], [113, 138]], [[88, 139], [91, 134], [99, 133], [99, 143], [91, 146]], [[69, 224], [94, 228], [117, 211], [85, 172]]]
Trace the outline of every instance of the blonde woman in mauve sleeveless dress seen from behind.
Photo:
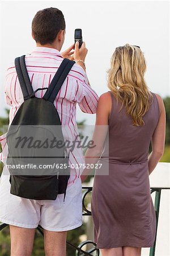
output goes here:
[[[159, 94], [148, 89], [145, 71], [138, 46], [116, 48], [108, 71], [110, 91], [97, 106], [96, 147], [85, 155], [86, 164], [99, 156], [97, 164], [102, 164], [95, 170], [91, 201], [102, 256], [139, 256], [141, 247], [154, 245], [156, 218], [148, 176], [164, 152], [165, 108]], [[82, 181], [87, 174], [86, 166]]]

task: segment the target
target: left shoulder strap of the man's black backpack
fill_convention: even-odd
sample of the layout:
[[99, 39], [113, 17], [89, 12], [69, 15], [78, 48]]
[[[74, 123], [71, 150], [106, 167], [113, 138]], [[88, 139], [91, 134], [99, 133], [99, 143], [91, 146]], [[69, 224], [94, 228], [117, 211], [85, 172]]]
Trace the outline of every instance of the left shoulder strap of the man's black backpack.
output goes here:
[[28, 100], [28, 98], [33, 93], [33, 89], [32, 89], [31, 81], [29, 79], [27, 68], [25, 65], [25, 55], [21, 57], [17, 57], [15, 59], [15, 68], [16, 68], [16, 73], [18, 75], [20, 87], [22, 89], [22, 93], [24, 96], [24, 101]]

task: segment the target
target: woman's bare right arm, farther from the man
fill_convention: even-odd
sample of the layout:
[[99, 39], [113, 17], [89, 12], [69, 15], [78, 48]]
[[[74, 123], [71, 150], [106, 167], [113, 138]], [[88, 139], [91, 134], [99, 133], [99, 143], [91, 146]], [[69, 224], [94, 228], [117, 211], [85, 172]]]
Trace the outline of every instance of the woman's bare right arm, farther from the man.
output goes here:
[[165, 115], [165, 107], [162, 97], [159, 94], [156, 94], [159, 103], [160, 115], [158, 125], [152, 135], [152, 152], [148, 156], [148, 173], [151, 174], [154, 171], [156, 165], [159, 160], [162, 158], [164, 154], [164, 144], [165, 144], [165, 126], [166, 126], [166, 115]]

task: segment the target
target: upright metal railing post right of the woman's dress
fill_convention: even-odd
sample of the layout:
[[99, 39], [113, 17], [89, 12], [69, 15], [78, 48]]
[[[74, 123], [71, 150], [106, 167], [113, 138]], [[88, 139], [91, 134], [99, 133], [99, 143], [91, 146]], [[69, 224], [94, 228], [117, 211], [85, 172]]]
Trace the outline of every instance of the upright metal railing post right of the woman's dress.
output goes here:
[[156, 235], [154, 246], [150, 249], [150, 256], [155, 256], [155, 247], [156, 247], [156, 237], [157, 237], [157, 230], [158, 230], [158, 220], [159, 220], [159, 207], [160, 207], [160, 195], [161, 195], [161, 188], [159, 189], [152, 189], [151, 193], [155, 191], [155, 214], [156, 214]]

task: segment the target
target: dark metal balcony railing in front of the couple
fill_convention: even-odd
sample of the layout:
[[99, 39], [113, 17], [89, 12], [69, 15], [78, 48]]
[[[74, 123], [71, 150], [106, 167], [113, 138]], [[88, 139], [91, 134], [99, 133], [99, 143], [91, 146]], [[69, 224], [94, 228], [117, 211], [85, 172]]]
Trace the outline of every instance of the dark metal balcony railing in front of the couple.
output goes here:
[[[91, 210], [87, 209], [87, 206], [86, 206], [86, 197], [90, 192], [92, 192], [92, 187], [84, 187], [83, 186], [82, 189], [83, 189], [83, 193], [82, 193], [83, 213], [82, 214], [83, 214], [83, 216], [91, 216]], [[155, 213], [156, 213], [156, 236], [155, 236], [154, 246], [150, 247], [150, 256], [155, 255], [156, 237], [157, 237], [157, 229], [158, 229], [158, 221], [159, 221], [160, 198], [161, 198], [161, 192], [163, 189], [169, 189], [169, 187], [165, 187], [165, 188], [152, 187], [151, 188], [151, 193], [155, 192], [154, 207], [155, 207]], [[8, 226], [8, 224], [5, 224], [5, 223], [1, 224], [0, 231], [3, 228], [5, 228], [6, 226]], [[37, 230], [39, 230], [39, 232], [43, 236], [43, 229], [41, 228], [40, 225], [37, 227]], [[75, 256], [85, 256], [85, 255], [99, 256], [100, 255], [100, 251], [99, 251], [99, 249], [96, 248], [96, 243], [93, 241], [83, 241], [78, 246], [73, 245], [71, 242], [67, 241], [67, 245], [74, 247]], [[91, 247], [91, 249], [88, 249], [86, 251], [83, 250], [82, 248], [85, 245], [88, 245], [88, 247]]]

